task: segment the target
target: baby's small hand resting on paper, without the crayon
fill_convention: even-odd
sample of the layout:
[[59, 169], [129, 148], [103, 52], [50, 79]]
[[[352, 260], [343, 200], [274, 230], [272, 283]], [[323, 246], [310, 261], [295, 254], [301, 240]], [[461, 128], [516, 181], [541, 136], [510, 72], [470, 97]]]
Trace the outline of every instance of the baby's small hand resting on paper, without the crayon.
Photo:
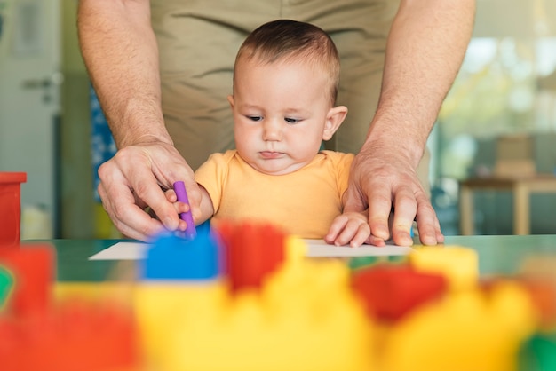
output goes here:
[[385, 241], [370, 234], [367, 212], [345, 212], [336, 217], [330, 225], [329, 233], [324, 237], [324, 241], [336, 246], [349, 243], [352, 248], [361, 246], [363, 243], [385, 246]]

